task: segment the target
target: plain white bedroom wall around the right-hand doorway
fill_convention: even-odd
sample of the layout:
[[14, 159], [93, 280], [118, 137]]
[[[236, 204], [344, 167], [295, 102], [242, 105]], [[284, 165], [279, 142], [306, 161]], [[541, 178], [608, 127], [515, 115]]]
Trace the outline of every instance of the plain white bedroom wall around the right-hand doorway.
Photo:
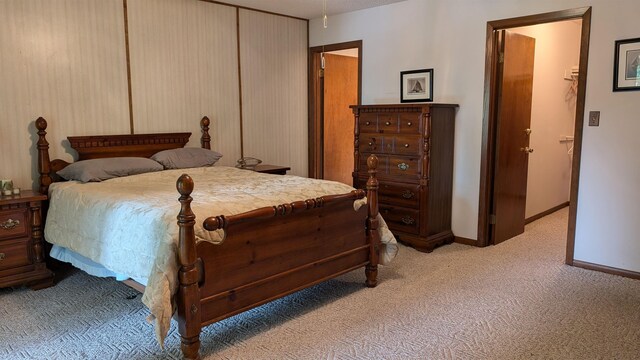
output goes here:
[[[613, 4], [615, 3], [615, 5]], [[592, 6], [575, 259], [640, 271], [640, 92], [613, 93], [613, 47], [640, 34], [637, 0], [407, 0], [310, 21], [310, 46], [363, 40], [363, 104], [399, 102], [402, 70], [434, 68], [456, 115], [453, 232], [476, 239], [487, 21]], [[579, 121], [586, 121], [580, 119]]]

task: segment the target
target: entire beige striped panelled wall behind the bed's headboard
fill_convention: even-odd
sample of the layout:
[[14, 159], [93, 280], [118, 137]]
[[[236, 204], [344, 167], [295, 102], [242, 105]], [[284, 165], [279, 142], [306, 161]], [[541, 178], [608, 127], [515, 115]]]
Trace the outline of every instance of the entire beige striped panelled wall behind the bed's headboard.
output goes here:
[[[69, 135], [191, 131], [198, 146], [207, 115], [221, 163], [235, 164], [237, 11], [198, 0], [0, 1], [0, 178], [34, 186], [38, 116], [52, 124], [52, 157], [71, 160]], [[239, 20], [245, 156], [306, 175], [307, 22], [246, 9]]]

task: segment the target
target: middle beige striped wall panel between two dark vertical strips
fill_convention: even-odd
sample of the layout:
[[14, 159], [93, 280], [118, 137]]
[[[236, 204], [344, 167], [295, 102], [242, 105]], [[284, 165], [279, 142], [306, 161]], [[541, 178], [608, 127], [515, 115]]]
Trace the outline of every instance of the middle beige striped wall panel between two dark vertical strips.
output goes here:
[[136, 133], [191, 131], [212, 121], [221, 164], [240, 158], [236, 9], [202, 1], [128, 2]]

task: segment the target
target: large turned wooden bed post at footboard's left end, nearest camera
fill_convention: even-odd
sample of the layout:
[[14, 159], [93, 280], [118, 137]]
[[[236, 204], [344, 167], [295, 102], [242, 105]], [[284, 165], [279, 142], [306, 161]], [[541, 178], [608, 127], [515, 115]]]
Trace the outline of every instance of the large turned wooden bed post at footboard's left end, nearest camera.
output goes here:
[[193, 226], [196, 216], [191, 210], [193, 179], [183, 174], [176, 182], [180, 193], [180, 214], [178, 214], [179, 244], [178, 258], [178, 331], [182, 338], [182, 354], [186, 359], [200, 359], [200, 288], [196, 267], [196, 237]]

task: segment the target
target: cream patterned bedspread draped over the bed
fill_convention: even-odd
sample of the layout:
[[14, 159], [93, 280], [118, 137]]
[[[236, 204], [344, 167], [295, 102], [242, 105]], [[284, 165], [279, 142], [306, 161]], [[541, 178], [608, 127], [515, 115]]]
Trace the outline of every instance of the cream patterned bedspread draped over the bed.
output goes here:
[[[142, 301], [156, 320], [161, 345], [171, 322], [171, 299], [178, 285], [176, 216], [180, 204], [175, 184], [183, 173], [195, 183], [191, 207], [196, 214], [196, 237], [212, 242], [219, 242], [221, 237], [202, 228], [208, 216], [239, 214], [353, 190], [333, 181], [223, 166], [165, 170], [101, 183], [52, 184], [45, 239], [115, 273], [146, 280]], [[397, 245], [384, 221], [381, 235], [380, 258], [385, 264], [395, 256]]]

